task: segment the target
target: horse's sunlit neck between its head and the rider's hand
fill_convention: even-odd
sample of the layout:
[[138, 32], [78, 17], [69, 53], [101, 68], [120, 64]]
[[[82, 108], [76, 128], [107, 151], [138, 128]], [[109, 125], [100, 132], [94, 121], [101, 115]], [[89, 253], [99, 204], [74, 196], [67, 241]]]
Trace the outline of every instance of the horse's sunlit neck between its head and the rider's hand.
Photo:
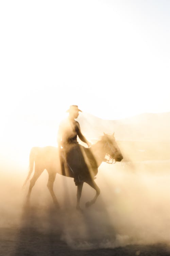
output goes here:
[[102, 141], [98, 141], [94, 145], [91, 146], [91, 151], [97, 161], [98, 166], [103, 162], [106, 152], [104, 150], [104, 145]]

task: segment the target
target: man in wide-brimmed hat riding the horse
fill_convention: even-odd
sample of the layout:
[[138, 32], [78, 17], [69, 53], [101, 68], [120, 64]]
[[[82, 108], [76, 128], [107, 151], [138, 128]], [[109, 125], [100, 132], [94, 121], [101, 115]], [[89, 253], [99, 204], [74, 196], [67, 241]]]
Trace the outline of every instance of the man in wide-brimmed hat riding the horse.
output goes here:
[[[81, 147], [77, 141], [77, 136], [80, 140], [85, 142], [88, 147], [91, 145], [83, 136], [79, 123], [75, 120], [79, 116], [77, 105], [71, 105], [67, 110], [68, 118], [64, 120], [58, 129], [57, 143], [61, 160], [62, 169], [70, 169], [74, 177], [75, 185], [80, 184], [80, 170], [78, 168], [79, 162], [83, 159]], [[62, 148], [63, 149], [62, 149]]]

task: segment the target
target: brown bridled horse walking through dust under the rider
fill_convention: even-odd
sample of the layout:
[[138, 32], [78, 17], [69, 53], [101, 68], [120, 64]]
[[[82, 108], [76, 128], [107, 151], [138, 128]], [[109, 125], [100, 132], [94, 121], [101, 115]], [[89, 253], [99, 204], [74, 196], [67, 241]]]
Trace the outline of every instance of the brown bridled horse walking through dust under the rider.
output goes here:
[[[83, 183], [86, 182], [89, 186], [96, 190], [95, 197], [91, 200], [86, 202], [85, 206], [89, 207], [90, 205], [94, 204], [100, 194], [100, 189], [97, 186], [95, 180], [95, 176], [98, 173], [98, 167], [101, 165], [103, 161], [108, 163], [113, 163], [113, 159], [116, 161], [121, 161], [123, 156], [121, 151], [117, 145], [117, 142], [114, 137], [114, 133], [105, 134], [97, 141], [95, 144], [91, 145], [89, 148], [85, 148], [81, 146], [81, 151], [83, 155], [82, 159], [78, 159], [81, 161], [79, 162], [79, 169], [80, 172], [80, 183], [77, 185], [77, 205], [76, 209], [81, 210], [80, 208], [80, 198], [82, 194]], [[109, 156], [109, 160], [106, 159], [106, 155]], [[26, 185], [27, 181], [29, 180], [31, 173], [34, 168], [34, 175], [30, 180], [30, 186], [27, 194], [27, 201], [29, 202], [31, 191], [35, 182], [37, 181], [38, 177], [41, 173], [46, 169], [49, 178], [47, 187], [50, 191], [52, 196], [53, 202], [57, 208], [60, 208], [57, 198], [53, 191], [53, 184], [55, 181], [56, 173], [61, 175], [72, 177], [73, 178], [73, 170], [69, 166], [66, 167], [67, 163], [65, 163], [65, 167], [61, 165], [61, 158], [58, 153], [58, 148], [53, 146], [46, 146], [46, 147], [33, 147], [30, 151], [30, 166], [29, 166], [29, 173], [27, 176], [26, 181], [23, 184], [23, 187]]]

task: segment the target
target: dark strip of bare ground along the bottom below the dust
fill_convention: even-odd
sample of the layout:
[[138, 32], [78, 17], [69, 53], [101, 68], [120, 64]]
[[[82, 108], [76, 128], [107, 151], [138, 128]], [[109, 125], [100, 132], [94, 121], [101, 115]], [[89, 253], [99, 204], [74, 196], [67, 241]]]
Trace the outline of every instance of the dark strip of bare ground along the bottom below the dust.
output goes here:
[[33, 228], [21, 230], [1, 229], [0, 255], [2, 256], [53, 256], [53, 255], [145, 255], [169, 256], [170, 246], [166, 244], [126, 245], [116, 248], [74, 249], [62, 240], [57, 232], [43, 233]]

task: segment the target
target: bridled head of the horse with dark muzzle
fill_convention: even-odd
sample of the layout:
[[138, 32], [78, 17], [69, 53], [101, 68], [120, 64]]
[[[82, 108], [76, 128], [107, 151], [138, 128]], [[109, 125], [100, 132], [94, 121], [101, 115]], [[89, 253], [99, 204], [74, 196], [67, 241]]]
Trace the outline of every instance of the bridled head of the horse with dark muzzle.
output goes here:
[[106, 154], [109, 155], [110, 158], [115, 159], [115, 161], [120, 162], [123, 156], [115, 140], [114, 133], [112, 135], [104, 133], [102, 141], [104, 142]]

